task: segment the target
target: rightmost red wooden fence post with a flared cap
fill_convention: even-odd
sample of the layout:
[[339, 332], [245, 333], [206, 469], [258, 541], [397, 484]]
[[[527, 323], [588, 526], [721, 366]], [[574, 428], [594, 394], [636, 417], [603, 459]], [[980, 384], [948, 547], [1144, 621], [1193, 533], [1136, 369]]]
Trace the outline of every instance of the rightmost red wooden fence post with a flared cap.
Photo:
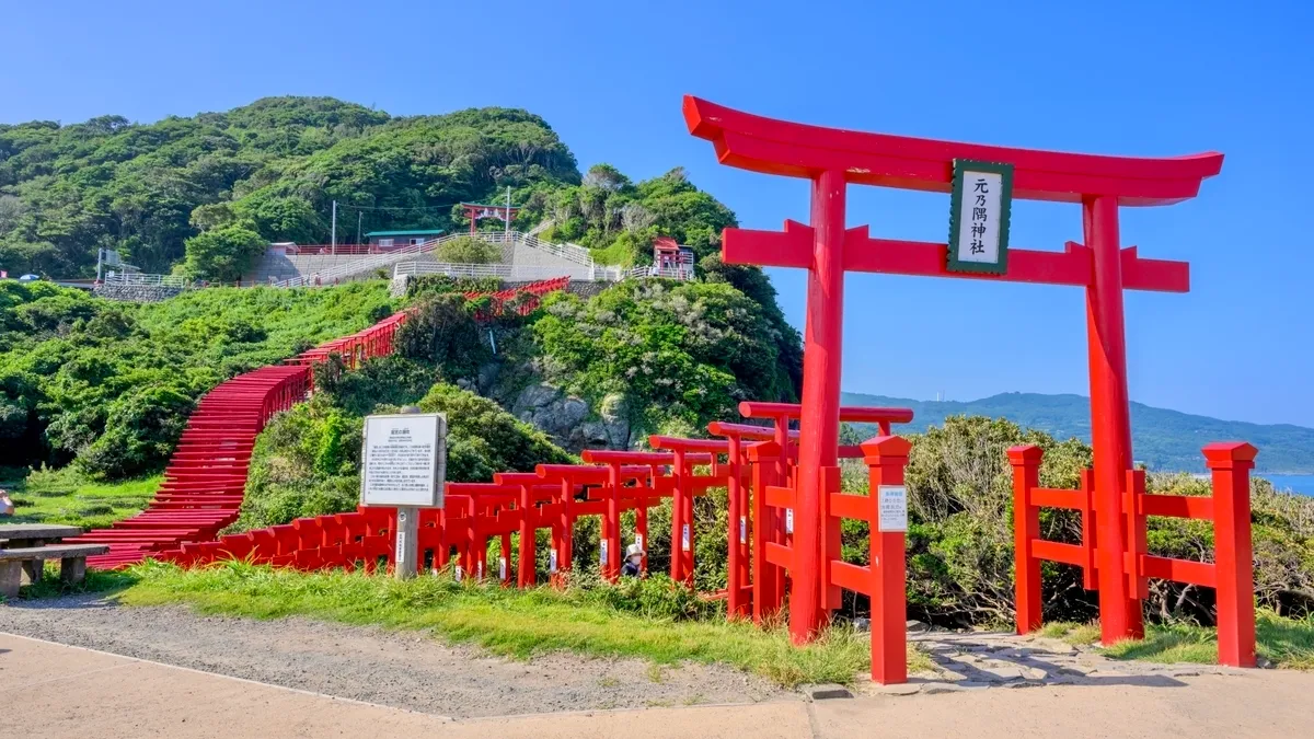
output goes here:
[[1209, 444], [1205, 464], [1214, 485], [1214, 572], [1218, 579], [1218, 661], [1255, 667], [1255, 577], [1250, 539], [1250, 471], [1254, 446]]

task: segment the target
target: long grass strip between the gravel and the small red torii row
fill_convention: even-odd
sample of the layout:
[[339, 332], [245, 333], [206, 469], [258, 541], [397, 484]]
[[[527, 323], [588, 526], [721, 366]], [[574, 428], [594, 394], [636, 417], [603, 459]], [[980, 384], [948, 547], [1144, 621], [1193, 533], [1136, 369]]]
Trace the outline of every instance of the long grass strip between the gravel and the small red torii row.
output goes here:
[[[126, 586], [125, 586], [126, 584]], [[355, 625], [432, 631], [449, 642], [515, 659], [569, 651], [639, 657], [662, 668], [683, 660], [720, 663], [779, 685], [851, 682], [870, 669], [865, 638], [842, 627], [795, 648], [788, 632], [727, 622], [669, 580], [620, 585], [583, 583], [564, 590], [520, 590], [444, 576], [398, 581], [346, 572], [297, 572], [246, 563], [181, 569], [146, 563], [97, 585], [116, 588], [125, 605], [187, 604], [204, 614], [250, 618], [304, 615]], [[46, 594], [32, 592], [30, 596]], [[925, 655], [920, 655], [929, 667]], [[917, 669], [911, 665], [911, 669]]]

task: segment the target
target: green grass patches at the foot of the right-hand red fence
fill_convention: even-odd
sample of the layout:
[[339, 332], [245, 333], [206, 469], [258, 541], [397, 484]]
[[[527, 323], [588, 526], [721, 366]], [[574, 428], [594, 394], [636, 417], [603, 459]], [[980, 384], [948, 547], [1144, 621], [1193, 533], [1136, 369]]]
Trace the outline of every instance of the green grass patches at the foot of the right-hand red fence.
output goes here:
[[[1100, 627], [1092, 623], [1056, 622], [1041, 629], [1041, 635], [1071, 644], [1092, 644], [1100, 640]], [[1273, 665], [1314, 669], [1314, 618], [1285, 618], [1260, 609], [1255, 613], [1255, 636], [1259, 656]], [[1218, 632], [1192, 623], [1151, 625], [1144, 639], [1118, 642], [1100, 652], [1113, 659], [1217, 664]]]

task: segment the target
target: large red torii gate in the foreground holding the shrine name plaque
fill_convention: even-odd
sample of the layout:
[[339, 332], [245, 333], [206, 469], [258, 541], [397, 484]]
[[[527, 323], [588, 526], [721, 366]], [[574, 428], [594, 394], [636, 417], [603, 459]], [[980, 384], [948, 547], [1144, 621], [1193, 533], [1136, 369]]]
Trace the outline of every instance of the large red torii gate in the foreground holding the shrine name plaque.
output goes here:
[[[794, 523], [799, 559], [790, 596], [795, 642], [811, 639], [828, 618], [819, 576], [821, 539], [828, 536], [820, 501], [827, 494], [823, 468], [833, 467], [838, 454], [845, 271], [1084, 287], [1096, 533], [1102, 542], [1126, 542], [1122, 501], [1133, 458], [1122, 291], [1187, 292], [1190, 280], [1184, 262], [1143, 259], [1137, 247], [1121, 247], [1118, 206], [1194, 197], [1201, 181], [1221, 171], [1222, 154], [1105, 156], [861, 133], [765, 118], [692, 96], [685, 97], [683, 109], [690, 133], [711, 141], [720, 163], [812, 183], [811, 225], [786, 221], [783, 231], [727, 229], [721, 246], [728, 264], [808, 270]], [[867, 226], [845, 227], [849, 184], [949, 192], [955, 159], [1012, 164], [1013, 197], [1080, 203], [1085, 243], [1068, 242], [1062, 252], [1010, 249], [1005, 274], [966, 274], [949, 271], [946, 243], [871, 238]], [[1099, 554], [1105, 644], [1143, 634], [1141, 601], [1130, 586], [1134, 579], [1122, 548], [1106, 546]]]

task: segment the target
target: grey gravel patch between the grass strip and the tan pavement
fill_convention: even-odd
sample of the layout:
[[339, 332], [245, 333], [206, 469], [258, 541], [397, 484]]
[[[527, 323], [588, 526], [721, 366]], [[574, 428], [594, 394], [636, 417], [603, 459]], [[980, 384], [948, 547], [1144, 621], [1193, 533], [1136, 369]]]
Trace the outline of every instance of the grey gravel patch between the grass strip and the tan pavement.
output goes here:
[[204, 617], [95, 596], [0, 606], [0, 631], [453, 718], [795, 697], [723, 667], [569, 654], [515, 661], [414, 631]]

